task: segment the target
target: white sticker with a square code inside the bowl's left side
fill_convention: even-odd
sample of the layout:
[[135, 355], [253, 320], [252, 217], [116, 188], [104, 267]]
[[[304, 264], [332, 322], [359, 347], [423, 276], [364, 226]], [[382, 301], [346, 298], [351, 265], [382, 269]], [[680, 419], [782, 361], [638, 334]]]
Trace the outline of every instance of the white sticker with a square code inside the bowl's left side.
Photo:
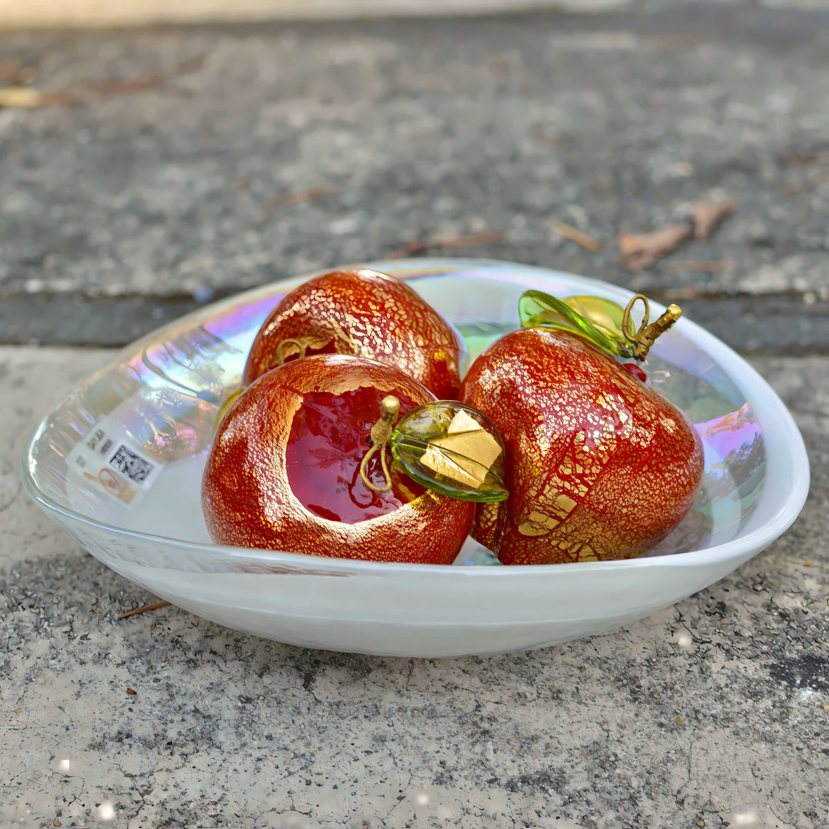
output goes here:
[[141, 500], [162, 471], [162, 463], [150, 460], [106, 417], [75, 445], [68, 460], [87, 481], [128, 507]]

